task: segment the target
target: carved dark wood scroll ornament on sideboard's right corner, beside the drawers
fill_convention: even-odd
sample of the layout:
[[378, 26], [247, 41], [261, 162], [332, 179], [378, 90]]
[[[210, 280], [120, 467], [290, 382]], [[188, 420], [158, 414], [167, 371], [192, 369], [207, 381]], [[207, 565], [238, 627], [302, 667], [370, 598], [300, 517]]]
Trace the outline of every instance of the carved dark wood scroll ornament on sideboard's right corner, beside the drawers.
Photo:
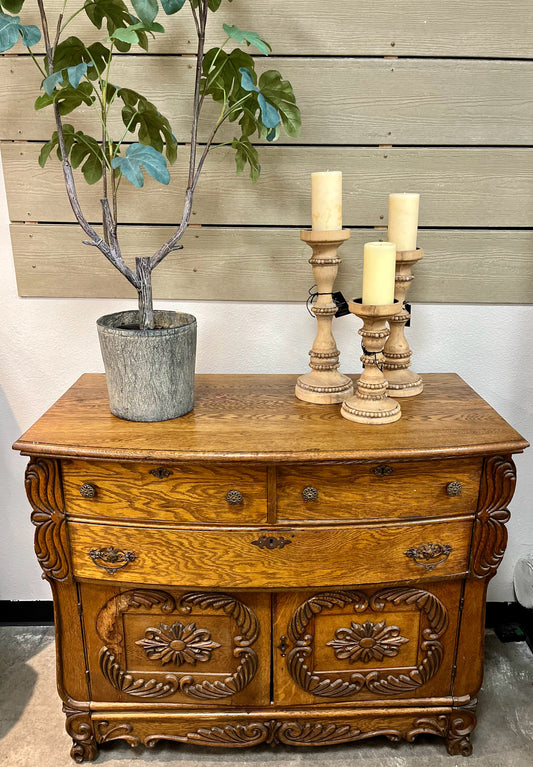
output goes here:
[[510, 456], [485, 459], [479, 503], [474, 523], [472, 571], [477, 578], [492, 578], [507, 546], [510, 512], [508, 504], [516, 484], [516, 469]]

